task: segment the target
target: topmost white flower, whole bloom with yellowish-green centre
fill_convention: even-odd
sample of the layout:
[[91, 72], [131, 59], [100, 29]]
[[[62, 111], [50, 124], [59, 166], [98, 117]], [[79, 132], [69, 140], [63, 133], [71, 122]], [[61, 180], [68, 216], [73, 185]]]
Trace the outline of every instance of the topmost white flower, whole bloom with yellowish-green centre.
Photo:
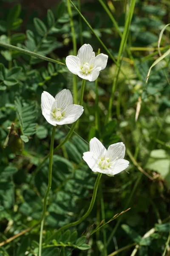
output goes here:
[[100, 53], [95, 57], [90, 44], [83, 44], [77, 56], [69, 55], [65, 63], [68, 69], [75, 75], [88, 81], [95, 81], [99, 76], [99, 71], [106, 67], [108, 55]]

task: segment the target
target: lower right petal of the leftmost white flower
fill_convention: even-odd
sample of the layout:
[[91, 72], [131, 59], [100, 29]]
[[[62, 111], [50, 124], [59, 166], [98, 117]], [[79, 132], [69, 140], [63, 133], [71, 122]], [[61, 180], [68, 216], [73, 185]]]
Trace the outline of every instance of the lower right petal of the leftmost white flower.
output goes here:
[[77, 121], [77, 119], [79, 119], [83, 111], [84, 109], [80, 105], [70, 105], [64, 111], [64, 116], [61, 119], [56, 120], [56, 123], [57, 125], [72, 124], [73, 122]]

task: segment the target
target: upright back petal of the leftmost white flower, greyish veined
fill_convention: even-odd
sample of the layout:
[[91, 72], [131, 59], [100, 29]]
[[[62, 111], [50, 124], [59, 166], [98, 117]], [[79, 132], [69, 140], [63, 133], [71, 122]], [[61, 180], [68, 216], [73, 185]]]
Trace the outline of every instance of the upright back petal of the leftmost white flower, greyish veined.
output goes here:
[[57, 93], [55, 96], [55, 104], [57, 108], [65, 109], [67, 106], [73, 104], [73, 96], [71, 91], [68, 89], [63, 89], [61, 92]]

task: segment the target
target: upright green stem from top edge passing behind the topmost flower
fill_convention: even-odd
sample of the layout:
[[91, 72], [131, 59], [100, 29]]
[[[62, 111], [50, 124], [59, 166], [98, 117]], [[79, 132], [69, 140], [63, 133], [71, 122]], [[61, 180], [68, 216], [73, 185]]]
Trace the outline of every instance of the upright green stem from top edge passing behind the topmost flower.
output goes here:
[[[69, 0], [67, 0], [67, 9], [68, 9], [68, 14], [70, 16], [71, 36], [72, 36], [72, 42], [73, 42], [73, 54], [77, 55], [76, 34], [74, 30], [73, 15], [72, 15], [71, 5]], [[73, 99], [74, 99], [74, 104], [77, 104], [77, 76], [74, 74], [73, 74]]]

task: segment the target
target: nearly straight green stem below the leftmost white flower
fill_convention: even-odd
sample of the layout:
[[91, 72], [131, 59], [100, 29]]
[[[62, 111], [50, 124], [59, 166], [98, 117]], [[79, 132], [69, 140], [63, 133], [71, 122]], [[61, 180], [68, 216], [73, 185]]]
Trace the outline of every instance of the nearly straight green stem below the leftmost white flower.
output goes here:
[[43, 203], [43, 210], [42, 210], [42, 217], [41, 217], [41, 230], [40, 230], [40, 244], [39, 244], [39, 256], [41, 256], [41, 250], [42, 250], [42, 231], [45, 221], [45, 214], [47, 209], [47, 200], [48, 195], [51, 189], [51, 182], [52, 182], [52, 167], [53, 167], [53, 151], [54, 151], [54, 136], [55, 136], [55, 130], [56, 126], [53, 126], [53, 131], [51, 134], [51, 144], [50, 144], [50, 158], [49, 158], [49, 168], [48, 168], [48, 186], [44, 197], [44, 203]]

